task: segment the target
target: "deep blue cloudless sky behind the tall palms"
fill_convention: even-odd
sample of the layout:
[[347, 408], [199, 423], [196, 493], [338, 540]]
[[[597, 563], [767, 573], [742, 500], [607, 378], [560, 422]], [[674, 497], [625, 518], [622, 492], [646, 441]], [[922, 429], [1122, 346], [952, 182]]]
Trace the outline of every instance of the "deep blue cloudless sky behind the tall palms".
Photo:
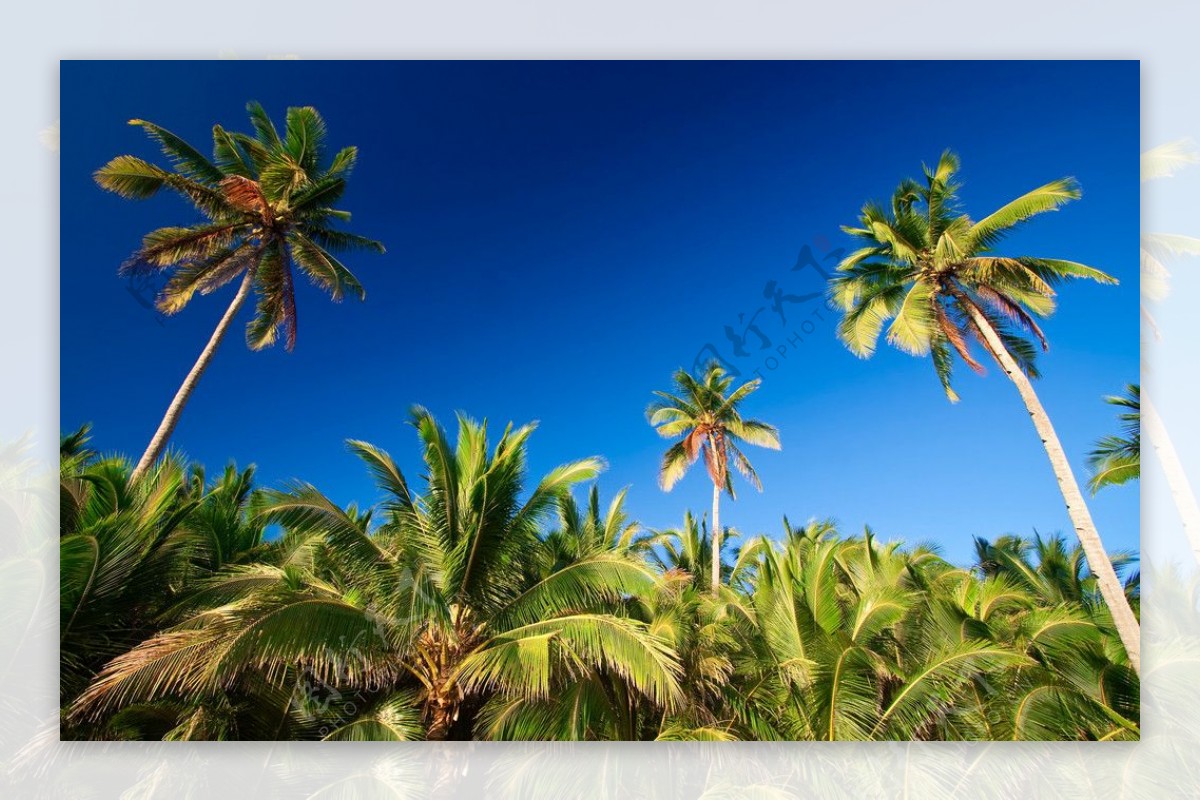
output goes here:
[[[162, 161], [131, 118], [208, 150], [212, 124], [248, 127], [252, 98], [281, 124], [288, 106], [316, 106], [331, 147], [359, 146], [341, 205], [388, 253], [348, 261], [364, 303], [334, 305], [301, 279], [292, 354], [248, 351], [239, 325], [174, 436], [211, 470], [254, 463], [265, 483], [298, 477], [370, 502], [344, 440], [388, 448], [415, 477], [404, 420], [420, 403], [496, 430], [538, 420], [534, 472], [602, 454], [605, 498], [629, 484], [637, 519], [672, 525], [708, 507], [710, 486], [697, 469], [658, 489], [667, 444], [643, 410], [712, 343], [762, 369], [746, 410], [784, 440], [752, 454], [766, 492], [743, 484], [722, 507], [730, 525], [774, 534], [785, 513], [834, 517], [956, 561], [976, 535], [1069, 534], [998, 369], [960, 369], [952, 405], [928, 361], [886, 348], [860, 361], [812, 303], [786, 306], [786, 326], [763, 309], [772, 345], [751, 333], [749, 357], [725, 338], [768, 303], [768, 281], [818, 290], [814, 272], [791, 270], [802, 248], [848, 246], [839, 227], [862, 203], [944, 147], [961, 155], [977, 216], [1062, 175], [1084, 187], [1007, 243], [1122, 281], [1066, 287], [1045, 325], [1038, 390], [1081, 477], [1114, 428], [1100, 397], [1138, 378], [1136, 62], [64, 62], [61, 426], [91, 421], [102, 450], [140, 453], [234, 288], [160, 321], [116, 267], [142, 234], [194, 212], [122, 200], [91, 173], [119, 153]], [[805, 319], [803, 343], [779, 357]], [[1135, 486], [1092, 511], [1110, 548], [1138, 547]]]

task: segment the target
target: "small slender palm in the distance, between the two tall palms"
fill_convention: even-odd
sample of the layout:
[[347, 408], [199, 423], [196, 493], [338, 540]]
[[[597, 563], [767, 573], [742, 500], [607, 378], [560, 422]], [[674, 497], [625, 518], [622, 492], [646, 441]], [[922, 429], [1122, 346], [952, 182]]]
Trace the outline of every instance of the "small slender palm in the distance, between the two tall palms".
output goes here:
[[738, 447], [738, 442], [758, 445], [778, 451], [779, 432], [761, 420], [746, 420], [738, 406], [758, 389], [760, 379], [746, 381], [733, 392], [733, 377], [715, 360], [696, 378], [685, 369], [674, 374], [673, 392], [655, 391], [659, 399], [649, 405], [646, 416], [664, 439], [679, 439], [662, 456], [659, 484], [666, 492], [676, 486], [688, 468], [702, 454], [708, 477], [713, 482], [713, 570], [715, 594], [721, 585], [721, 490], [736, 499], [730, 462], [758, 492], [758, 474]]

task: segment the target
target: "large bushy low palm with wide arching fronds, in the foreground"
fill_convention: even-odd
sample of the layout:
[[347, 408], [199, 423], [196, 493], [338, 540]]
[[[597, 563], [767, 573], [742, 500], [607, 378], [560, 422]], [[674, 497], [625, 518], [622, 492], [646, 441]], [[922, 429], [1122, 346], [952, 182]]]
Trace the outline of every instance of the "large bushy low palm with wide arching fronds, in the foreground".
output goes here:
[[[541, 536], [600, 460], [564, 464], [524, 496], [533, 426], [509, 426], [490, 446], [486, 423], [460, 417], [451, 444], [428, 411], [414, 409], [412, 422], [424, 493], [361, 441], [350, 448], [383, 493], [378, 506], [341, 508], [305, 483], [263, 490], [258, 519], [284, 530], [270, 558], [198, 583], [169, 625], [100, 671], [70, 719], [182, 701], [186, 728], [246, 698], [278, 709], [270, 703], [282, 697], [286, 724], [301, 730], [325, 715], [320, 695], [337, 693], [356, 699], [355, 713], [310, 733], [436, 740], [504, 730], [497, 716], [581, 677], [617, 682], [630, 709], [677, 704], [670, 648], [624, 612], [653, 571], [619, 548], [563, 566]], [[196, 731], [212, 736], [208, 724]]]

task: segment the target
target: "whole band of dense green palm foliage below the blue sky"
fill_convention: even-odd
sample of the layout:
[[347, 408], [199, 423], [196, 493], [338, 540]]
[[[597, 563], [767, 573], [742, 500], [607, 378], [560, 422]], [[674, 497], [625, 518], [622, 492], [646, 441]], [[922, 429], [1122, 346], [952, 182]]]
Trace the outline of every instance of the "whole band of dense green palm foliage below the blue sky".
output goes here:
[[64, 736], [1138, 736], [1136, 675], [1061, 538], [980, 541], [956, 567], [785, 520], [716, 549], [714, 595], [702, 522], [580, 499], [598, 459], [529, 481], [532, 427], [410, 421], [416, 483], [349, 442], [366, 508], [175, 456], [131, 483], [64, 438]]

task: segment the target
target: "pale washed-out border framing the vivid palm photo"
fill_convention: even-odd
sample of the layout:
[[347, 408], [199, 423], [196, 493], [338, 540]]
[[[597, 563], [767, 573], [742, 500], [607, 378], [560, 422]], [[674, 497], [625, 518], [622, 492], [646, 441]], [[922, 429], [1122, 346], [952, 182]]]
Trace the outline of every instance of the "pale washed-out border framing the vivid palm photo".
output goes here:
[[[6, 8], [0, 206], [0, 789], [10, 797], [1195, 797], [1196, 553], [1151, 448], [1140, 743], [59, 743], [58, 60], [1121, 58], [1142, 146], [1200, 139], [1200, 6], [1177, 2], [44, 2]], [[361, 91], [372, 102], [372, 88]], [[986, 91], [986, 88], [980, 88]], [[936, 98], [936, 92], [931, 92]], [[936, 102], [936, 100], [931, 100]], [[917, 109], [919, 113], [919, 109]], [[884, 115], [894, 120], [890, 114]], [[844, 122], [832, 121], [832, 125]], [[848, 124], [848, 122], [847, 122]], [[1020, 135], [1020, 121], [1012, 124]], [[68, 135], [88, 135], [72, 131]], [[1144, 187], [1200, 236], [1200, 164]], [[1200, 484], [1200, 259], [1171, 267], [1146, 395]], [[97, 267], [100, 269], [100, 267]], [[131, 354], [136, 357], [136, 354]], [[24, 450], [12, 446], [28, 436]]]

